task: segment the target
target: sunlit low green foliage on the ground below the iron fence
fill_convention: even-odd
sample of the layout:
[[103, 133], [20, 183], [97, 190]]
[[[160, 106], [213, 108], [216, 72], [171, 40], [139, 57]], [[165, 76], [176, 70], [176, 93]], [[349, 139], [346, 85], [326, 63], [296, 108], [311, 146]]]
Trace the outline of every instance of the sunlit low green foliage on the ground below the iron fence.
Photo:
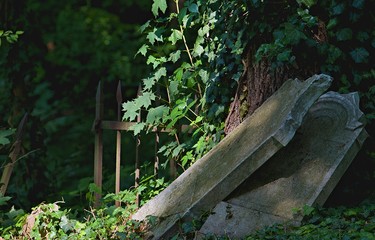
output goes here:
[[135, 210], [135, 194], [124, 191], [107, 195], [104, 200], [120, 201], [123, 207], [90, 209], [83, 218], [61, 209], [63, 201], [41, 203], [29, 214], [14, 208], [0, 212], [0, 235], [2, 239], [142, 239], [146, 224], [130, 219]]

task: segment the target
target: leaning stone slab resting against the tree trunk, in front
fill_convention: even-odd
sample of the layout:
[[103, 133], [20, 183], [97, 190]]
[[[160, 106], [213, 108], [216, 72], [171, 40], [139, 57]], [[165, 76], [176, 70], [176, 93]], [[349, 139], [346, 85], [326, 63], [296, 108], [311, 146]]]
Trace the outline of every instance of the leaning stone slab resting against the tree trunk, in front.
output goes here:
[[308, 109], [330, 83], [326, 75], [285, 82], [251, 117], [140, 208], [133, 219], [159, 217], [160, 223], [152, 231], [154, 239], [163, 239], [177, 230], [178, 221], [215, 207], [289, 143]]

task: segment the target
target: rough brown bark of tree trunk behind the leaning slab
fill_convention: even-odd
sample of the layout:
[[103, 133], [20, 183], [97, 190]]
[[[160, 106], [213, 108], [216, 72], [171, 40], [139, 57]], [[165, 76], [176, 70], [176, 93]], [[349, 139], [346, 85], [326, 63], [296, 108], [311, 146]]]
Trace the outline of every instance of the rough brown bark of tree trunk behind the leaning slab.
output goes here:
[[[312, 37], [319, 43], [327, 41], [326, 28], [322, 21], [319, 22], [318, 29]], [[256, 63], [254, 56], [258, 46], [249, 44], [245, 51], [242, 60], [244, 72], [240, 77], [234, 100], [225, 121], [225, 134], [229, 134], [250, 116], [286, 80], [290, 78], [305, 80], [313, 74], [319, 73], [320, 64], [313, 61], [301, 61], [294, 66], [284, 65], [278, 68], [272, 68], [270, 60], [266, 58]]]

